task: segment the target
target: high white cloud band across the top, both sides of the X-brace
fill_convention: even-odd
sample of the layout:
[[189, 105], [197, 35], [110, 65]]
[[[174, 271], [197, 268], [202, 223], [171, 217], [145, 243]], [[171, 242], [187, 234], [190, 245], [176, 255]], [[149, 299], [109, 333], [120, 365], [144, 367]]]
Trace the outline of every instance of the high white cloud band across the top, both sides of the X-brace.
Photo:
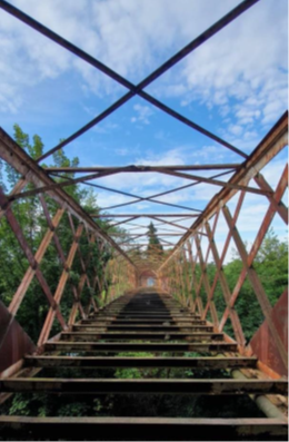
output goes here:
[[[13, 3], [134, 82], [232, 9], [216, 0], [14, 0]], [[167, 72], [152, 90], [230, 114], [229, 132], [271, 125], [289, 106], [288, 2], [259, 2]], [[0, 106], [16, 112], [20, 89], [76, 71], [87, 94], [114, 94], [94, 68], [0, 11]], [[149, 124], [151, 108], [136, 105], [132, 122]]]

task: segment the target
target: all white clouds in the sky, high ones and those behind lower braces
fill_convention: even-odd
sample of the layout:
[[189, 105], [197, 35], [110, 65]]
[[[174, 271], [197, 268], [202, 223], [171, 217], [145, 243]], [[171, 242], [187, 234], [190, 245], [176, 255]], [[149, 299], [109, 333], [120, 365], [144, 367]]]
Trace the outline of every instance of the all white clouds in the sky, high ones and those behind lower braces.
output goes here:
[[[239, 0], [14, 0], [12, 3], [122, 76], [138, 82], [239, 3]], [[287, 0], [257, 3], [243, 17], [238, 18], [166, 73], [150, 90], [161, 98], [177, 98], [182, 106], [198, 102], [209, 109], [216, 108], [225, 121], [220, 128], [225, 138], [245, 150], [251, 149], [259, 139], [256, 126], [270, 126], [289, 107], [287, 16]], [[36, 86], [46, 85], [46, 81], [70, 72], [81, 82], [87, 97], [93, 92], [114, 98], [120, 91], [113, 81], [91, 66], [2, 10], [0, 52], [0, 109], [3, 112], [17, 112], [26, 105], [21, 92], [23, 88], [33, 91]], [[91, 107], [84, 105], [83, 108], [90, 115], [96, 114]], [[152, 115], [152, 107], [136, 104], [131, 121], [136, 125], [149, 125]], [[94, 130], [102, 134], [117, 128], [116, 125], [103, 124]], [[169, 134], [165, 134], [159, 130], [156, 138], [160, 141], [169, 139]], [[120, 156], [132, 153], [127, 147], [119, 147], [114, 151]], [[218, 163], [225, 159], [225, 153], [220, 147], [208, 145], [198, 150], [196, 146], [185, 146], [158, 154], [147, 151], [146, 155], [134, 150], [133, 155], [136, 164], [158, 166]], [[266, 178], [276, 185], [282, 166], [283, 161], [270, 165], [263, 171]], [[96, 183], [128, 191], [133, 186], [132, 193], [149, 196], [189, 181], [146, 173], [118, 174]], [[217, 186], [200, 184], [160, 199], [205, 207], [219, 189]], [[101, 206], [129, 200], [117, 194], [99, 191], [98, 195]], [[241, 218], [248, 235], [249, 228], [255, 230], [260, 224], [263, 212], [261, 206], [262, 203], [257, 204], [256, 195], [248, 195]], [[131, 207], [131, 210], [136, 209]], [[152, 207], [156, 209], [158, 206], [142, 203], [137, 208], [149, 212]]]

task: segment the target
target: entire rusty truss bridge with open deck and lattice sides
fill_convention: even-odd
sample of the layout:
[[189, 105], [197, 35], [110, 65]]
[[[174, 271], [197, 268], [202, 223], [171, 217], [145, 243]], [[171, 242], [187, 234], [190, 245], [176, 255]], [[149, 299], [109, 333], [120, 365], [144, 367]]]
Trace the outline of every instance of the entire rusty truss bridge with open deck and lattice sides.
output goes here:
[[[1, 442], [288, 440], [289, 112], [249, 151], [148, 91], [262, 3], [132, 84], [0, 0], [0, 17], [126, 89], [46, 151], [0, 128]], [[211, 160], [199, 138], [179, 165], [66, 157], [132, 99], [213, 144]]]

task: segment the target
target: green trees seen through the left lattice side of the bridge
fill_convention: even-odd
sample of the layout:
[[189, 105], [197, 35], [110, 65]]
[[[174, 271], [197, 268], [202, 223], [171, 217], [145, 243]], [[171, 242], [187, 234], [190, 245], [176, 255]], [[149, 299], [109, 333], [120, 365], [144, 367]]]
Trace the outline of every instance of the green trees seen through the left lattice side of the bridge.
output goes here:
[[[41, 138], [36, 135], [30, 141], [29, 136], [24, 134], [18, 125], [14, 125], [14, 139], [32, 158], [37, 159], [43, 154], [43, 144]], [[76, 167], [79, 165], [79, 159], [76, 157], [70, 160], [62, 149], [58, 150], [52, 156], [52, 163], [49, 166], [57, 167]], [[61, 174], [56, 177], [57, 181], [73, 178], [71, 173]], [[6, 193], [9, 193], [19, 181], [20, 175], [8, 164], [0, 163], [0, 185]], [[29, 184], [26, 190], [32, 189], [33, 186]], [[97, 196], [92, 190], [83, 188], [83, 186], [71, 185], [66, 187], [66, 191], [70, 194], [88, 213], [97, 214], [99, 207], [97, 205]], [[50, 217], [52, 218], [59, 208], [57, 204], [47, 195], [43, 195], [44, 204], [48, 207]], [[48, 229], [48, 223], [43, 214], [42, 205], [38, 196], [18, 199], [12, 205], [13, 214], [23, 232], [24, 238], [33, 252], [37, 252], [43, 235]], [[108, 223], [98, 222], [103, 228], [108, 228]], [[78, 227], [78, 220], [73, 218], [74, 229]], [[67, 257], [72, 244], [73, 233], [71, 229], [70, 220], [64, 213], [61, 222], [57, 228], [60, 246], [63, 255]], [[104, 247], [102, 252], [98, 251], [97, 246], [89, 245], [86, 235], [82, 235], [79, 242], [80, 253], [76, 254], [73, 266], [70, 271], [69, 283], [66, 286], [63, 296], [61, 298], [61, 313], [66, 320], [69, 317], [69, 312], [72, 306], [73, 296], [71, 284], [78, 285], [80, 275], [83, 273], [81, 267], [81, 256], [86, 257], [90, 254], [91, 258], [87, 263], [87, 273], [90, 281], [92, 279], [93, 271], [97, 268], [99, 277], [103, 265], [110, 258], [110, 249]], [[8, 306], [16, 293], [23, 275], [29, 267], [28, 259], [26, 258], [10, 225], [4, 216], [0, 219], [0, 301]], [[94, 268], [93, 268], [94, 267]], [[44, 257], [41, 261], [40, 269], [48, 282], [48, 285], [53, 294], [56, 292], [59, 277], [63, 269], [61, 259], [57, 253], [53, 242], [48, 247]], [[90, 296], [99, 295], [91, 293], [89, 287], [84, 285], [81, 293], [81, 302], [84, 306]], [[34, 277], [30, 287], [22, 301], [22, 304], [17, 313], [17, 320], [29, 334], [29, 336], [37, 342], [41, 327], [43, 325], [46, 315], [48, 313], [48, 301]], [[59, 331], [58, 322], [54, 321], [52, 334]]]

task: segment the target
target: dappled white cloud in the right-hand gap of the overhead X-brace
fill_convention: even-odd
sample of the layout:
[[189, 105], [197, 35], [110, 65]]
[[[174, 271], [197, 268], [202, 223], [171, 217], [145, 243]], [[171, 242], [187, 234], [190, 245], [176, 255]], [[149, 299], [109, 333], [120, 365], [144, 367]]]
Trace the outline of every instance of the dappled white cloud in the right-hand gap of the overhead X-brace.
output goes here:
[[159, 81], [153, 92], [175, 96], [171, 89], [181, 87], [183, 106], [200, 101], [236, 118], [235, 135], [241, 134], [240, 126], [272, 125], [289, 107], [288, 12], [286, 0], [257, 3]]

